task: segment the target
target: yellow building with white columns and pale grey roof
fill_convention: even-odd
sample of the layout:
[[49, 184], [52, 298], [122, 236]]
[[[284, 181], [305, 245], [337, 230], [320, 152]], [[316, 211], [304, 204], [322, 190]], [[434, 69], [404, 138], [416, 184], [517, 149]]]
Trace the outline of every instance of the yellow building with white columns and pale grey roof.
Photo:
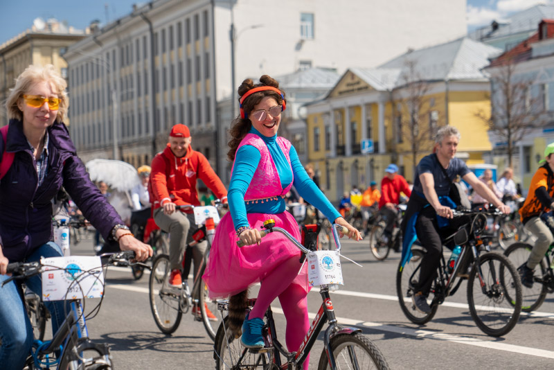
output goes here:
[[484, 163], [491, 144], [476, 114], [490, 111], [490, 85], [481, 68], [497, 53], [463, 38], [375, 69], [348, 69], [328, 96], [307, 106], [308, 160], [330, 200], [354, 185], [379, 183], [390, 163], [413, 180], [414, 164], [447, 124], [461, 132], [458, 157]]

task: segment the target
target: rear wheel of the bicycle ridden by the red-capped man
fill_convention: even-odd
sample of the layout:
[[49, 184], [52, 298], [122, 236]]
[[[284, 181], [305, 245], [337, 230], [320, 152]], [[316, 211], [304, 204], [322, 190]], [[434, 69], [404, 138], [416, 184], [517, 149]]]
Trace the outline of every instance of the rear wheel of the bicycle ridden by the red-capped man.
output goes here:
[[181, 290], [168, 285], [170, 272], [169, 256], [159, 254], [152, 263], [148, 281], [148, 297], [152, 316], [160, 331], [168, 335], [175, 333], [183, 316], [179, 304]]

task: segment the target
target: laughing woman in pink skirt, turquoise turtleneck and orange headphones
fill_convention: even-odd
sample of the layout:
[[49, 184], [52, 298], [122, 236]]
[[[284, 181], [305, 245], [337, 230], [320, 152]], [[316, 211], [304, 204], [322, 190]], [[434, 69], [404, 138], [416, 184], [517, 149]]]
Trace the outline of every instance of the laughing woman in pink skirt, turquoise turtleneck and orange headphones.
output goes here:
[[[271, 233], [260, 238], [263, 222], [274, 219], [277, 227], [300, 240], [298, 224], [285, 211], [283, 200], [294, 184], [298, 193], [331, 222], [347, 227], [355, 240], [361, 236], [310, 179], [291, 143], [277, 136], [281, 112], [286, 106], [285, 93], [278, 86], [276, 80], [265, 75], [259, 84], [244, 80], [238, 89], [240, 117], [233, 121], [228, 153], [233, 161], [228, 193], [230, 211], [217, 225], [203, 277], [213, 297], [244, 293], [250, 285], [261, 282], [256, 304], [242, 324], [242, 344], [249, 348], [264, 345], [262, 319], [271, 301], [278, 297], [287, 319], [287, 348], [296, 351], [310, 326], [307, 267], [298, 274], [301, 252], [283, 234]], [[246, 246], [239, 248], [238, 239]], [[232, 310], [230, 307], [230, 316]], [[243, 318], [244, 313], [240, 319]]]

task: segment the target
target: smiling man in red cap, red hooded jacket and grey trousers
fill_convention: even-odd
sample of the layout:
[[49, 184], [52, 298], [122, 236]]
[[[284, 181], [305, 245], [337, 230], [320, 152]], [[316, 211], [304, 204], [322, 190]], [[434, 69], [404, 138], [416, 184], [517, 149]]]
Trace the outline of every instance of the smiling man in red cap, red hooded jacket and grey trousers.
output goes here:
[[[181, 263], [187, 243], [193, 241], [192, 235], [197, 230], [193, 211], [176, 211], [175, 206], [192, 204], [199, 206], [196, 180], [201, 179], [215, 195], [227, 201], [227, 191], [220, 178], [211, 168], [208, 159], [202, 153], [190, 147], [190, 131], [181, 123], [172, 127], [169, 143], [163, 152], [152, 159], [150, 173], [152, 206], [154, 221], [163, 231], [170, 234], [170, 285], [180, 288]], [[195, 274], [207, 243], [199, 243], [193, 248]], [[185, 276], [186, 277], [186, 276]]]

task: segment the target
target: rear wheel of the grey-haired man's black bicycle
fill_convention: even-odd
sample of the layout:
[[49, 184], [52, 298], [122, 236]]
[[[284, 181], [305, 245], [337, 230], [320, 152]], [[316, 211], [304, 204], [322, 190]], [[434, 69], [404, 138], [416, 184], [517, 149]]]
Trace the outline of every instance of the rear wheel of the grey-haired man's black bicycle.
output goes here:
[[[438, 305], [431, 306], [431, 312], [428, 314], [419, 312], [415, 309], [415, 305], [411, 301], [412, 295], [415, 293], [413, 291], [413, 282], [419, 280], [420, 276], [420, 265], [423, 258], [424, 252], [413, 249], [412, 261], [406, 263], [402, 268], [402, 261], [398, 264], [398, 269], [396, 272], [396, 294], [398, 297], [398, 303], [400, 303], [400, 308], [402, 312], [413, 324], [423, 325], [431, 321], [435, 316]], [[411, 282], [409, 281], [411, 279]]]

